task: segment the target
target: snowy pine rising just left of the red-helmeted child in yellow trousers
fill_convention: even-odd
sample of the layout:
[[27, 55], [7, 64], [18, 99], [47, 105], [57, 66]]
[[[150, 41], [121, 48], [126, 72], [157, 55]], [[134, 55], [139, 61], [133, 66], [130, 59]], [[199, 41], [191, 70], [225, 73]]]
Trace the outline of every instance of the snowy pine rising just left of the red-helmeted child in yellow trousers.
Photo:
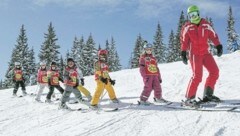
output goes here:
[[93, 40], [92, 34], [89, 35], [86, 45], [83, 47], [83, 60], [85, 69], [82, 69], [83, 75], [93, 75], [94, 74], [94, 62], [97, 61], [97, 49], [95, 48], [95, 42]]

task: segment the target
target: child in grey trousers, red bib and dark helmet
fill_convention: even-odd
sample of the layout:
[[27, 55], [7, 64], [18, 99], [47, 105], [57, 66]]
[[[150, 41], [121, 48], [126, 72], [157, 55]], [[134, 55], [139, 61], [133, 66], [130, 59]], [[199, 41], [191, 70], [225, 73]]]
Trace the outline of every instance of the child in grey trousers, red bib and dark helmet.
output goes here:
[[69, 100], [71, 93], [75, 95], [80, 103], [86, 104], [86, 100], [82, 99], [82, 95], [80, 91], [77, 90], [79, 86], [79, 75], [77, 72], [77, 67], [72, 58], [67, 59], [67, 66], [64, 69], [64, 84], [66, 86], [65, 91], [62, 95], [61, 103], [59, 105], [59, 109], [70, 109], [66, 102]]

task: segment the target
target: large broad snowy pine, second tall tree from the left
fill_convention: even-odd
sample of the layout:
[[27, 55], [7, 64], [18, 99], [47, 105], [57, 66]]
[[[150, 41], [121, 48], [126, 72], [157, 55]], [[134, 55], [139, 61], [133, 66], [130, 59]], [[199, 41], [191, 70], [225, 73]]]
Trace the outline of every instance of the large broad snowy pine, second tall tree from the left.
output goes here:
[[58, 38], [56, 37], [52, 22], [48, 26], [48, 32], [44, 33], [44, 42], [41, 45], [40, 53], [38, 55], [40, 61], [46, 61], [47, 66], [52, 61], [59, 64], [59, 48], [60, 46], [56, 43]]

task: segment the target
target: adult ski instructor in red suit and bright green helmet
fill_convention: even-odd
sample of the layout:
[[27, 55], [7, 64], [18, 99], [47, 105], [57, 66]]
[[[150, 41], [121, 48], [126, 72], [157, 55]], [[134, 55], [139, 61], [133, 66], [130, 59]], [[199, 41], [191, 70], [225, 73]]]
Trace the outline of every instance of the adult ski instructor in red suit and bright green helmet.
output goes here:
[[205, 83], [203, 102], [220, 102], [220, 99], [213, 95], [214, 86], [219, 77], [219, 69], [212, 54], [208, 50], [208, 41], [212, 41], [215, 45], [218, 57], [222, 55], [222, 45], [212, 26], [200, 17], [197, 6], [190, 6], [187, 13], [190, 21], [186, 22], [181, 30], [181, 56], [183, 63], [186, 65], [189, 59], [193, 75], [187, 87], [186, 101], [184, 104], [186, 106], [194, 106], [197, 104], [195, 96], [198, 85], [202, 81], [203, 67], [205, 67], [209, 73]]

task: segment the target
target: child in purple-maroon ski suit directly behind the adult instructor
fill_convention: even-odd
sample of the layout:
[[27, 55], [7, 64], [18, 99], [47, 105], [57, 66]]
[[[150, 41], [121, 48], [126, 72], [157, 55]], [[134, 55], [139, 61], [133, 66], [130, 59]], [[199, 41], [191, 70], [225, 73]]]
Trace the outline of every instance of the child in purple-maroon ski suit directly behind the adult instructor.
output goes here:
[[140, 96], [140, 104], [149, 105], [148, 97], [151, 91], [154, 90], [154, 101], [156, 103], [167, 103], [162, 97], [162, 78], [157, 66], [157, 60], [152, 55], [152, 44], [146, 43], [144, 45], [144, 53], [139, 59], [140, 73], [144, 82], [144, 89]]

